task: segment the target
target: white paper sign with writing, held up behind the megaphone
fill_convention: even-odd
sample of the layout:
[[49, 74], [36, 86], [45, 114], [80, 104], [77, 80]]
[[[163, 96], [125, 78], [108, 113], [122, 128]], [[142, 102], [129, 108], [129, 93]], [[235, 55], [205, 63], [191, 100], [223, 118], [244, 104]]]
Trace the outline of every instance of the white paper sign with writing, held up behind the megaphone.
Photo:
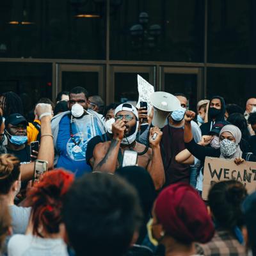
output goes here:
[[148, 103], [148, 112], [150, 111], [152, 105], [150, 103], [149, 96], [151, 93], [155, 92], [154, 86], [148, 83], [145, 79], [143, 79], [140, 75], [137, 76], [138, 80], [138, 92], [139, 92], [139, 99], [136, 105], [136, 108], [140, 108], [140, 102], [146, 101]]

